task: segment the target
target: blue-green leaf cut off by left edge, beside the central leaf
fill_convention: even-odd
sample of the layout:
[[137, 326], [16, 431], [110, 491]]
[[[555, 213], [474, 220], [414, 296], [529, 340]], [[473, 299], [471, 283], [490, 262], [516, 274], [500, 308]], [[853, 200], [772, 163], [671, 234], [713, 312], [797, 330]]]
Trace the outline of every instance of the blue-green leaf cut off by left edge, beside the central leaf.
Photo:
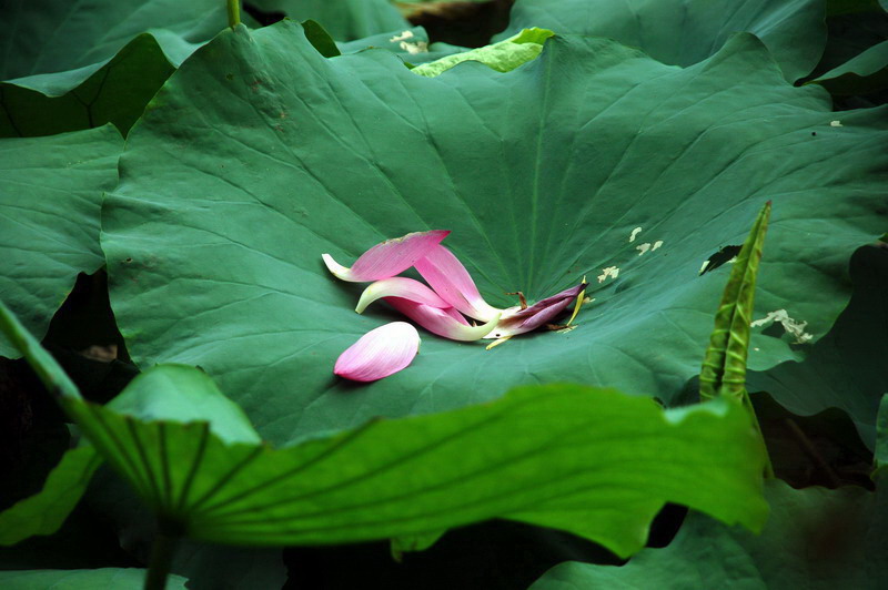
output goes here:
[[[0, 139], [0, 299], [40, 336], [77, 274], [104, 262], [99, 212], [122, 145], [112, 125]], [[2, 336], [0, 355], [16, 356]]]

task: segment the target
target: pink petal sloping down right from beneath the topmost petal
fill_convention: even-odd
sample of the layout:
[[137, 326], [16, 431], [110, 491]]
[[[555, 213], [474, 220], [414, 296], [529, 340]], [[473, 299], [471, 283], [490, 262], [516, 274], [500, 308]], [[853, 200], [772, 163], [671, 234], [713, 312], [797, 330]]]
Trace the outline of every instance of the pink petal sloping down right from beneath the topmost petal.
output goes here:
[[442, 299], [468, 317], [488, 322], [503, 312], [484, 301], [463, 263], [441, 244], [433, 246], [414, 266]]

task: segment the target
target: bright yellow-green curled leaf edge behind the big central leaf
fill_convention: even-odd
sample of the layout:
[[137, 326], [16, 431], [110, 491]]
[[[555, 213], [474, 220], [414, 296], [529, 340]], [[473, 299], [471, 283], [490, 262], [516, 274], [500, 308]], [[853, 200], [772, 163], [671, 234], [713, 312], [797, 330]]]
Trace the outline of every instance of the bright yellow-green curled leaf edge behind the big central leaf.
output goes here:
[[497, 72], [511, 72], [518, 65], [536, 59], [543, 51], [543, 43], [553, 34], [555, 33], [545, 29], [525, 29], [505, 41], [447, 55], [446, 58], [417, 65], [412, 71], [426, 78], [434, 78], [457, 63], [477, 61]]

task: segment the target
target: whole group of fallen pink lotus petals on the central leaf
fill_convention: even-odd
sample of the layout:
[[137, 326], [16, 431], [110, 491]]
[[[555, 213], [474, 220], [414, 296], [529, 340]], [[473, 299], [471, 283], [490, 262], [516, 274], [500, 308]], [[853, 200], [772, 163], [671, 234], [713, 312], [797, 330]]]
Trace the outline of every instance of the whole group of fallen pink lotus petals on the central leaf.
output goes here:
[[[581, 299], [585, 282], [527, 307], [497, 309], [478, 293], [468, 271], [441, 241], [450, 232], [416, 232], [387, 240], [361, 255], [351, 268], [324, 254], [326, 267], [339, 278], [371, 284], [357, 302], [360, 314], [383, 299], [425, 329], [453, 340], [495, 338], [498, 342], [551, 324], [571, 302]], [[414, 266], [428, 286], [398, 273]], [[579, 308], [577, 303], [576, 311]], [[464, 316], [484, 322], [471, 325]], [[407, 330], [410, 327], [413, 332]], [[496, 343], [494, 343], [496, 344]], [[336, 360], [334, 373], [353, 380], [371, 382], [405, 368], [418, 350], [416, 329], [395, 322], [364, 335]]]

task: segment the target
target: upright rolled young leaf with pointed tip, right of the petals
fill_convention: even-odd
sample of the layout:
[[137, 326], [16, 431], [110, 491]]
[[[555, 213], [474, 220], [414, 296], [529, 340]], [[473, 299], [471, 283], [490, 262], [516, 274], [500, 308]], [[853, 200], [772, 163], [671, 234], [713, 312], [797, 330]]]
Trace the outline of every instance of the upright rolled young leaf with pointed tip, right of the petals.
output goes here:
[[737, 260], [715, 316], [715, 328], [700, 370], [700, 397], [746, 397], [746, 359], [756, 296], [756, 277], [770, 217], [768, 201], [756, 217]]

